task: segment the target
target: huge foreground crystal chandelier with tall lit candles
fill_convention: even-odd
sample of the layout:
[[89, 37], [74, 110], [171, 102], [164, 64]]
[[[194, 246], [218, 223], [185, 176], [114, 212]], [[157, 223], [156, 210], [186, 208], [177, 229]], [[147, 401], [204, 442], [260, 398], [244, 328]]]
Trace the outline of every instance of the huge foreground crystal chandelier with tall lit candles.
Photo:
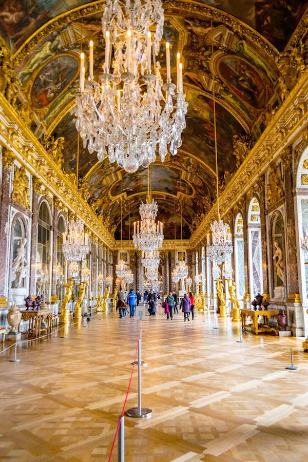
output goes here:
[[171, 82], [167, 42], [167, 81], [163, 83], [156, 62], [163, 25], [161, 0], [108, 0], [102, 18], [105, 63], [97, 80], [93, 42], [89, 43], [86, 82], [85, 54], [81, 53], [76, 129], [90, 153], [97, 151], [102, 160], [108, 151], [110, 162], [116, 161], [128, 172], [154, 162], [157, 145], [164, 162], [167, 146], [175, 156], [182, 144], [187, 113], [182, 63], [178, 58], [176, 86]]

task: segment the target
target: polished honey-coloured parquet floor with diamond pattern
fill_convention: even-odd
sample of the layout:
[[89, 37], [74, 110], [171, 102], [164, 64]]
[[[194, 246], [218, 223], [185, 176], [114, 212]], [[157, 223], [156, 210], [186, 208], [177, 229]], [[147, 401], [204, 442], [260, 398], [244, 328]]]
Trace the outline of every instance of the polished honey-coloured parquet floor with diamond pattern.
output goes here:
[[[306, 461], [308, 354], [295, 338], [244, 335], [197, 313], [143, 322], [142, 405], [125, 418], [126, 461]], [[0, 355], [0, 459], [106, 461], [121, 412], [139, 322], [100, 315], [67, 338]], [[62, 334], [63, 335], [63, 334]], [[290, 346], [298, 371], [287, 371]], [[137, 370], [127, 409], [137, 406]], [[112, 460], [117, 460], [115, 449]]]

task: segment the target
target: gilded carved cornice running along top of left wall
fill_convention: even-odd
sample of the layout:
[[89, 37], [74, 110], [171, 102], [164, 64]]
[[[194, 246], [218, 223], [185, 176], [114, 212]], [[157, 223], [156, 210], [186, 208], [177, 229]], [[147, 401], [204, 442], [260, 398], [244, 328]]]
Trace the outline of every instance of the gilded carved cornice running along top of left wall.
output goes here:
[[[75, 210], [75, 188], [69, 177], [47, 155], [42, 144], [32, 131], [23, 124], [17, 112], [0, 92], [0, 142], [12, 151], [16, 159], [31, 175], [41, 179], [42, 184], [58, 197], [70, 210]], [[6, 151], [6, 150], [5, 150]], [[93, 213], [87, 202], [79, 195], [77, 214], [109, 247], [114, 245], [114, 237], [107, 231], [102, 221]]]

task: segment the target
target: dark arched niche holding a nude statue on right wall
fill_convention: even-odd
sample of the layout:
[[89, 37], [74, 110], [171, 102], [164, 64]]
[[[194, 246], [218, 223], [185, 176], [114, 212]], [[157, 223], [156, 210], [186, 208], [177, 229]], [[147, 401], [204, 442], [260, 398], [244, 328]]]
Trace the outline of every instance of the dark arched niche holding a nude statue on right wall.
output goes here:
[[273, 282], [274, 297], [285, 296], [285, 252], [284, 252], [284, 223], [282, 215], [278, 212], [273, 218], [272, 224], [272, 249], [273, 249]]

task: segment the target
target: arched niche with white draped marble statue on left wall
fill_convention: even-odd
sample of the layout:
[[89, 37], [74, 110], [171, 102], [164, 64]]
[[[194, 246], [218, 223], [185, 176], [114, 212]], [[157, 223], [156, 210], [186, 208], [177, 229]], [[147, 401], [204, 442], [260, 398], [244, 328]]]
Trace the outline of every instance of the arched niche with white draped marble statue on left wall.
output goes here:
[[12, 223], [11, 287], [25, 287], [27, 266], [26, 227], [17, 216]]

